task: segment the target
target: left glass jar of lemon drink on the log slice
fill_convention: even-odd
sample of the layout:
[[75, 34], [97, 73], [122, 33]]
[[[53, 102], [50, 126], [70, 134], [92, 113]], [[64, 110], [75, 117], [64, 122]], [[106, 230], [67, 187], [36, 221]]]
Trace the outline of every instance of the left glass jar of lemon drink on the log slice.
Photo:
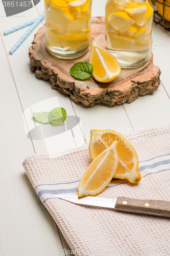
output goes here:
[[91, 2], [92, 0], [45, 0], [46, 48], [52, 55], [72, 59], [88, 51]]

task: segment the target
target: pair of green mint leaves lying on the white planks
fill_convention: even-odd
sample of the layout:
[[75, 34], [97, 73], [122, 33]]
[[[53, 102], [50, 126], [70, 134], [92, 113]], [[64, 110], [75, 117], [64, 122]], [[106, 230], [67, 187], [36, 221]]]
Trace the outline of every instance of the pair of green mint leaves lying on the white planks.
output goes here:
[[36, 122], [43, 124], [62, 124], [67, 118], [67, 113], [63, 108], [55, 108], [50, 112], [33, 113], [33, 118]]

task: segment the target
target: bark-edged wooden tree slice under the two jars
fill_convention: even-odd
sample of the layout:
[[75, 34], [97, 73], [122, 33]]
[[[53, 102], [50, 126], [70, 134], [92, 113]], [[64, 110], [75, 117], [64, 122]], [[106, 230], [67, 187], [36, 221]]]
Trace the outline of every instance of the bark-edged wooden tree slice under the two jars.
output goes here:
[[[91, 40], [105, 47], [105, 19], [92, 18]], [[45, 47], [45, 28], [35, 34], [33, 46], [29, 48], [31, 70], [38, 78], [49, 80], [52, 88], [69, 95], [74, 102], [84, 106], [103, 104], [115, 106], [131, 103], [139, 96], [154, 94], [160, 84], [160, 69], [153, 65], [152, 53], [149, 60], [136, 69], [122, 69], [113, 81], [101, 83], [90, 77], [86, 81], [74, 79], [69, 70], [78, 61], [89, 61], [89, 51], [77, 59], [59, 59], [52, 56]]]

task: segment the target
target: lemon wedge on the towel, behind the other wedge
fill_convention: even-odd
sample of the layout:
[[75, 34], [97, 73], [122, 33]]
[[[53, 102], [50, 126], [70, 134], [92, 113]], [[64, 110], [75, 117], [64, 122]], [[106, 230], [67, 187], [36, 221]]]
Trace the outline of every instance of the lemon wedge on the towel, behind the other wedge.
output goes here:
[[128, 179], [131, 183], [138, 183], [141, 179], [138, 172], [138, 157], [130, 142], [122, 134], [113, 130], [91, 130], [90, 133], [89, 152], [91, 159], [94, 160], [114, 141], [117, 141], [116, 150], [119, 163], [113, 177]]

